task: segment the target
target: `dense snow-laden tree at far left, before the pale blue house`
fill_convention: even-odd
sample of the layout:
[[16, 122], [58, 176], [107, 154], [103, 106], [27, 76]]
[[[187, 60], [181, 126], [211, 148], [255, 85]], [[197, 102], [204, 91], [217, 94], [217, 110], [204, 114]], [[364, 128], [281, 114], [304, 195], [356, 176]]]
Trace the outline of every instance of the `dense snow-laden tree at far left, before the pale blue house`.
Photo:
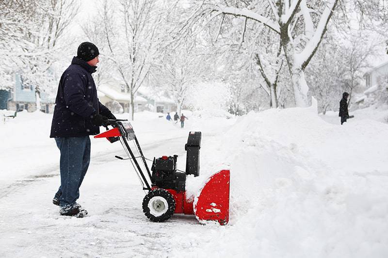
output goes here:
[[[4, 38], [1, 56], [5, 65], [14, 64], [13, 71], [20, 72], [23, 83], [33, 85], [36, 108], [40, 109], [40, 93], [52, 90], [52, 64], [61, 58], [60, 50], [66, 44], [58, 44], [66, 27], [78, 10], [75, 0], [10, 0], [0, 2], [0, 34]], [[4, 8], [4, 9], [3, 9]], [[2, 69], [1, 69], [2, 70]]]

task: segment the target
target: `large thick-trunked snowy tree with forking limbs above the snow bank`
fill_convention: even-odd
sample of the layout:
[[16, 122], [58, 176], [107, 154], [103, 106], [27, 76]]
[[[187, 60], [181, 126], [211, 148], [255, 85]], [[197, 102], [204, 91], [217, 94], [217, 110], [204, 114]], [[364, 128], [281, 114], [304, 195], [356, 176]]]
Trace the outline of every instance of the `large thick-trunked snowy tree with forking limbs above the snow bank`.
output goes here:
[[304, 71], [321, 43], [337, 3], [338, 0], [308, 4], [307, 0], [205, 1], [200, 12], [208, 12], [210, 18], [221, 16], [221, 21], [225, 15], [240, 16], [277, 33], [289, 67], [295, 103], [307, 106]]

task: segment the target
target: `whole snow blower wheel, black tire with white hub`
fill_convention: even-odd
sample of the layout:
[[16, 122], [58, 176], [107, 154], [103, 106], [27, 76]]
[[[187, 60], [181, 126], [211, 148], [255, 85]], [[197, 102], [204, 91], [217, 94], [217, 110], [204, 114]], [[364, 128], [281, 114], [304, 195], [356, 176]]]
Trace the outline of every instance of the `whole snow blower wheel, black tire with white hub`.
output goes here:
[[161, 188], [149, 191], [143, 199], [143, 212], [153, 222], [168, 220], [175, 211], [174, 197]]

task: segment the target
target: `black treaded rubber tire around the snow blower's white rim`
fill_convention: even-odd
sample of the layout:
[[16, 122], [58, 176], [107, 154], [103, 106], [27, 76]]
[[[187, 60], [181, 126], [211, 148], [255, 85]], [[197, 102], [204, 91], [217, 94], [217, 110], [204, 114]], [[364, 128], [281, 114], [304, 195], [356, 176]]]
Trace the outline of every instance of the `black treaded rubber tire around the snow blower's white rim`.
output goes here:
[[[151, 211], [149, 210], [148, 204], [153, 197], [162, 197], [167, 202], [168, 207], [163, 214], [157, 216], [155, 214], [152, 214]], [[149, 191], [148, 194], [143, 199], [143, 212], [146, 215], [146, 217], [153, 222], [162, 222], [162, 221], [168, 220], [174, 214], [174, 211], [175, 211], [175, 200], [174, 200], [174, 197], [167, 190], [158, 188], [158, 189]]]

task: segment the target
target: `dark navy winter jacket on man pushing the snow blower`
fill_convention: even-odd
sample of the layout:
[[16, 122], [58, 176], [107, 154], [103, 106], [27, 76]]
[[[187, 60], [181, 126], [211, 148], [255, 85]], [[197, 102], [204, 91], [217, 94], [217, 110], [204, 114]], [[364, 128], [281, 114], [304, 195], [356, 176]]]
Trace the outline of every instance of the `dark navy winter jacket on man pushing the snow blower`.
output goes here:
[[50, 137], [97, 135], [99, 127], [92, 123], [93, 116], [113, 118], [111, 111], [98, 101], [94, 72], [95, 66], [73, 58], [59, 81]]

